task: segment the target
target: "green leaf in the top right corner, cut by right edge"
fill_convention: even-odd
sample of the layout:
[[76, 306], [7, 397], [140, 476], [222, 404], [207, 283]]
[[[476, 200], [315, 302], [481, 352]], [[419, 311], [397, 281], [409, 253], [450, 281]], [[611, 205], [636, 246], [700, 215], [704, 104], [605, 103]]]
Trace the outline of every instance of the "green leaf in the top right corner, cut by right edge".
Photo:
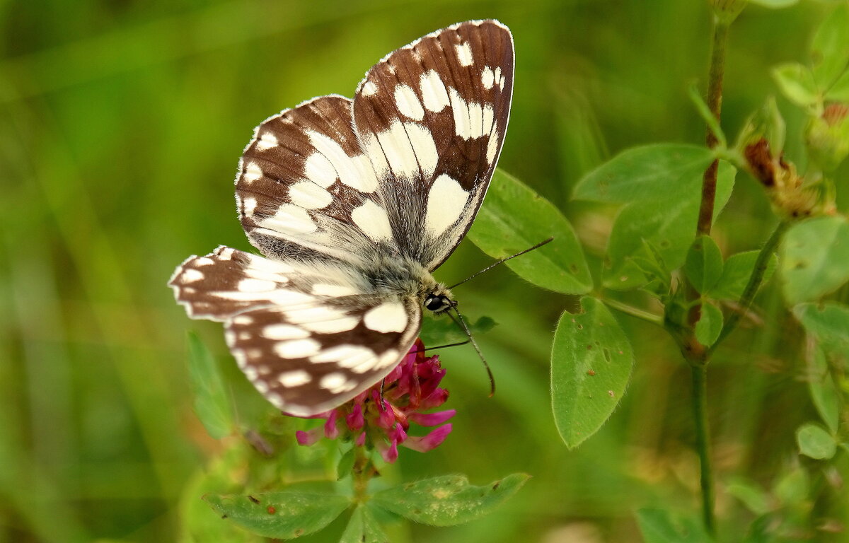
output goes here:
[[813, 78], [825, 91], [849, 62], [849, 5], [845, 2], [826, 15], [811, 43]]

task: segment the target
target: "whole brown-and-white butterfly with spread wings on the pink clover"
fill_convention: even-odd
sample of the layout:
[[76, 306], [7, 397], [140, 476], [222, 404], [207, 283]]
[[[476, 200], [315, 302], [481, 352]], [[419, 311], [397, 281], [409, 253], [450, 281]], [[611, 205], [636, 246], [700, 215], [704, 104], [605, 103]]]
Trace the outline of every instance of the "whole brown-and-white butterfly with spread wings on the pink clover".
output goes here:
[[306, 417], [351, 400], [402, 360], [423, 308], [453, 308], [431, 272], [484, 199], [513, 71], [509, 29], [467, 21], [389, 53], [353, 100], [312, 98], [256, 127], [236, 204], [264, 256], [221, 246], [168, 284], [188, 316], [224, 323], [278, 409]]

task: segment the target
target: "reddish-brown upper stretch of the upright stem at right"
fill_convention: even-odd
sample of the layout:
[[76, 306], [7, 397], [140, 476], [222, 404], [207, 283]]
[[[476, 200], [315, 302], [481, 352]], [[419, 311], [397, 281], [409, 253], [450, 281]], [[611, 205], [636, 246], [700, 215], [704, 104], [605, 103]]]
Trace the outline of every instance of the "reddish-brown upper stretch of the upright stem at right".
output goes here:
[[[713, 27], [713, 48], [711, 51], [711, 69], [707, 86], [707, 106], [711, 115], [719, 122], [722, 112], [722, 75], [725, 72], [725, 48], [728, 43], [728, 22], [717, 20]], [[715, 148], [718, 140], [710, 127], [707, 129], [706, 143], [709, 148]], [[699, 234], [711, 233], [713, 223], [713, 205], [717, 199], [717, 171], [719, 160], [714, 160], [707, 167], [701, 181], [701, 205], [699, 208]]]

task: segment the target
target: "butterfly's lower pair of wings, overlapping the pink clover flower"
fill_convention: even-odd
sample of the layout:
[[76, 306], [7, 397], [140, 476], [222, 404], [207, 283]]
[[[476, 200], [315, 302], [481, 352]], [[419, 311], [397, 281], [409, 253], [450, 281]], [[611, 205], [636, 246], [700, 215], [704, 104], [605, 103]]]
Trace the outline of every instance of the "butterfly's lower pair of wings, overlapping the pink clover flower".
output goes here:
[[189, 316], [223, 321], [250, 382], [301, 417], [384, 378], [421, 323], [417, 300], [376, 295], [345, 266], [304, 266], [227, 247], [189, 258], [169, 285]]

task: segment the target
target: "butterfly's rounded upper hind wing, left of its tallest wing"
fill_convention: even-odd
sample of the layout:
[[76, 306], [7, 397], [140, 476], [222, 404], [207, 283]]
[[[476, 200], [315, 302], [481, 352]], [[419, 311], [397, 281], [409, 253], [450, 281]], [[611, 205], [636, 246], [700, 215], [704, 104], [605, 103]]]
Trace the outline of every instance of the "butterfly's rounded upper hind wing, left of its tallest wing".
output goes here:
[[256, 127], [239, 161], [236, 203], [264, 255], [357, 263], [396, 251], [385, 214], [375, 216], [378, 180], [354, 133], [351, 104], [314, 98]]

